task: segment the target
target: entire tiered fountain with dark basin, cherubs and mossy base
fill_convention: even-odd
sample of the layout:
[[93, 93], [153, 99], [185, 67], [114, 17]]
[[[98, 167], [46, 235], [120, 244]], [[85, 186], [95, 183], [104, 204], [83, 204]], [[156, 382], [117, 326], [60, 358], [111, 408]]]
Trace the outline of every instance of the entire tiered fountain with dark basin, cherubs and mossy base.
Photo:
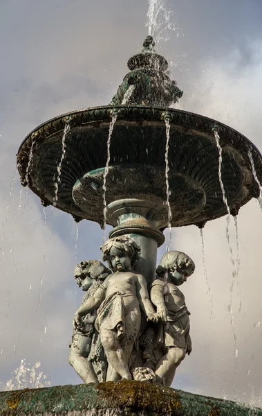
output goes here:
[[[249, 412], [230, 401], [169, 388], [176, 367], [191, 352], [189, 313], [176, 286], [194, 272], [194, 262], [184, 253], [169, 252], [170, 241], [158, 268], [156, 254], [165, 241], [166, 227], [196, 225], [202, 230], [207, 221], [225, 215], [229, 221], [252, 198], [259, 198], [261, 154], [227, 125], [169, 107], [183, 92], [170, 80], [167, 60], [154, 47], [148, 36], [142, 52], [129, 59], [130, 71], [109, 105], [43, 123], [30, 132], [17, 153], [21, 184], [37, 194], [44, 207], [54, 205], [76, 222], [87, 219], [102, 228], [113, 226], [102, 246], [113, 274], [98, 261], [82, 262], [75, 272], [87, 292], [74, 318], [74, 339], [80, 342], [83, 317], [97, 309], [95, 327], [88, 321], [88, 331], [95, 333], [90, 336], [94, 348], [98, 343], [104, 348], [100, 357], [104, 370], [98, 374], [94, 365], [96, 373], [88, 371], [93, 372], [91, 381], [102, 383], [24, 392], [23, 399], [20, 393], [3, 393], [10, 396], [1, 396], [2, 406], [19, 409], [17, 414], [25, 413], [23, 406], [30, 397], [32, 414]], [[96, 291], [92, 284], [97, 284]], [[113, 284], [115, 293], [109, 293]], [[173, 287], [180, 302], [175, 312], [170, 306], [173, 295], [166, 291]], [[140, 306], [130, 306], [138, 300]], [[156, 345], [159, 330], [164, 337], [161, 347]], [[120, 358], [112, 355], [114, 348]], [[82, 379], [88, 383], [89, 376], [85, 373]]]

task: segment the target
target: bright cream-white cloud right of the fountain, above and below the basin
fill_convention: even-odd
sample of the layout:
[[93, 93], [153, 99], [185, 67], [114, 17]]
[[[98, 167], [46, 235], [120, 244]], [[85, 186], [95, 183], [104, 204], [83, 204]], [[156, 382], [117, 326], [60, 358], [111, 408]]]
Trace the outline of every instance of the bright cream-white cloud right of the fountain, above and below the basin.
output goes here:
[[[203, 65], [205, 72], [192, 86], [185, 107], [231, 125], [261, 148], [262, 42], [250, 45], [250, 50], [252, 64], [245, 67], [238, 50], [224, 60], [209, 60]], [[180, 365], [176, 388], [262, 405], [261, 216], [254, 200], [240, 210], [238, 240], [230, 218], [234, 261], [237, 245], [241, 261], [236, 278], [232, 277], [236, 264], [232, 266], [230, 261], [225, 218], [208, 223], [203, 230], [207, 277], [199, 230], [174, 230], [174, 248], [187, 252], [196, 262], [196, 272], [183, 286], [191, 311], [194, 350]]]

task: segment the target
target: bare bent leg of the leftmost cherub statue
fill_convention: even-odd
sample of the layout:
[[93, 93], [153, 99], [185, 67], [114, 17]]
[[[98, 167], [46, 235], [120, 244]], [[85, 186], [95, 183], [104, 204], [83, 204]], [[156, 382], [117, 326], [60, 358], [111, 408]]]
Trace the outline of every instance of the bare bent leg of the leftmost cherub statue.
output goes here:
[[75, 334], [71, 343], [68, 363], [72, 365], [84, 383], [98, 383], [93, 365], [87, 357], [91, 347], [91, 340], [86, 336]]

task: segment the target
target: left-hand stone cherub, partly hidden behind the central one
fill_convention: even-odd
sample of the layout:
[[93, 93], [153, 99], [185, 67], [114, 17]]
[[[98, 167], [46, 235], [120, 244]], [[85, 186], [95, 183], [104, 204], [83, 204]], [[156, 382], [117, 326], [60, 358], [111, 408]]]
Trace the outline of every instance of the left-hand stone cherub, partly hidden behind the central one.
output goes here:
[[[106, 266], [98, 260], [81, 261], [81, 263], [75, 266], [75, 280], [77, 281], [78, 286], [82, 287], [83, 291], [86, 291], [82, 304], [93, 295], [109, 274], [111, 274], [111, 270], [106, 268]], [[72, 365], [85, 383], [103, 381], [101, 367], [104, 366], [103, 361], [106, 361], [106, 358], [104, 356], [104, 351], [101, 349], [100, 337], [95, 333], [94, 323], [96, 316], [96, 311], [94, 309], [91, 313], [84, 316], [81, 326], [74, 328], [68, 356], [69, 364]], [[95, 365], [92, 365], [90, 360], [88, 360], [91, 346], [93, 349], [98, 349], [100, 351], [99, 361], [102, 361], [102, 363], [100, 363], [100, 372], [97, 371]], [[106, 367], [107, 366], [105, 366], [105, 368]]]

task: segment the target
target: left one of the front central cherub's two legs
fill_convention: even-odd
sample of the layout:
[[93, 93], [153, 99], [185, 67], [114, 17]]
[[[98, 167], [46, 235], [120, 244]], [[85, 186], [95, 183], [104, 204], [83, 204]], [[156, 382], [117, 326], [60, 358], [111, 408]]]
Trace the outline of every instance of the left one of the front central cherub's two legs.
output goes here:
[[[131, 380], [126, 354], [124, 353], [118, 336], [114, 331], [100, 328], [100, 337], [106, 358], [122, 379]], [[113, 376], [113, 374], [111, 374]], [[106, 376], [106, 381], [109, 381]]]

